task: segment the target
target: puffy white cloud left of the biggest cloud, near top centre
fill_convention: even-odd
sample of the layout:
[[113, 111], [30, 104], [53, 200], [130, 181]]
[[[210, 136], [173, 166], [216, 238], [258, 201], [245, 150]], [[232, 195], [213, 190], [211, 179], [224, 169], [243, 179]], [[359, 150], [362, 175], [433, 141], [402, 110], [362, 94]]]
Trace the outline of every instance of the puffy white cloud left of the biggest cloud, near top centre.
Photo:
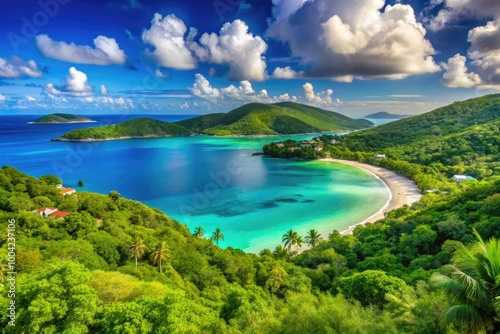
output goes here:
[[241, 20], [226, 23], [219, 34], [204, 33], [191, 50], [202, 62], [229, 66], [229, 80], [263, 81], [266, 78], [266, 62], [263, 54], [267, 44], [260, 36], [248, 31]]

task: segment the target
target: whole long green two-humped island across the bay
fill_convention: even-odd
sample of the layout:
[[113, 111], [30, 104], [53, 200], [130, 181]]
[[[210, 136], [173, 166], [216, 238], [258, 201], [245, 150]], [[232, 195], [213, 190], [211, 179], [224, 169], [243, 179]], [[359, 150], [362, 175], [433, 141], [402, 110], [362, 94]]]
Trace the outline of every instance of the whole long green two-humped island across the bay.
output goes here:
[[137, 118], [121, 124], [70, 131], [53, 141], [98, 141], [206, 134], [255, 136], [352, 131], [372, 127], [365, 119], [298, 103], [249, 103], [228, 113], [216, 113], [169, 123]]

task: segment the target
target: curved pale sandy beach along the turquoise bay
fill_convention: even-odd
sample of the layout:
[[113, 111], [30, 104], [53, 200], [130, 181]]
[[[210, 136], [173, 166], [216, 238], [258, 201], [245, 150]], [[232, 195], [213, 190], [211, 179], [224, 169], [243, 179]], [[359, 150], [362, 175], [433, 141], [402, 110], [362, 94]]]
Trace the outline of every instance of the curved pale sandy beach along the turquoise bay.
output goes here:
[[381, 208], [378, 212], [368, 217], [364, 221], [350, 226], [347, 230], [342, 231], [342, 234], [352, 233], [357, 225], [376, 222], [377, 220], [384, 218], [385, 212], [400, 208], [406, 204], [411, 205], [420, 200], [420, 198], [422, 197], [422, 193], [418, 189], [415, 182], [406, 177], [398, 175], [391, 170], [350, 160], [322, 159], [322, 161], [338, 162], [364, 169], [379, 178], [385, 184], [390, 193], [390, 198], [383, 208]]

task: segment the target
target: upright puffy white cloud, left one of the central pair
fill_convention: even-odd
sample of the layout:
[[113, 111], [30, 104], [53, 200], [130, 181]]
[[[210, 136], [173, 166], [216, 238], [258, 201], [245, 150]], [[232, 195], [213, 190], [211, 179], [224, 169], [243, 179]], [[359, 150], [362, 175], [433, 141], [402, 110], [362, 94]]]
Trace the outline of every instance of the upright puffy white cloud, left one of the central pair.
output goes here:
[[156, 13], [151, 21], [151, 28], [144, 30], [142, 41], [154, 47], [146, 54], [158, 65], [177, 70], [190, 70], [196, 67], [188, 45], [192, 43], [196, 29], [191, 28], [187, 40], [184, 40], [187, 28], [184, 22], [174, 14], [163, 17]]

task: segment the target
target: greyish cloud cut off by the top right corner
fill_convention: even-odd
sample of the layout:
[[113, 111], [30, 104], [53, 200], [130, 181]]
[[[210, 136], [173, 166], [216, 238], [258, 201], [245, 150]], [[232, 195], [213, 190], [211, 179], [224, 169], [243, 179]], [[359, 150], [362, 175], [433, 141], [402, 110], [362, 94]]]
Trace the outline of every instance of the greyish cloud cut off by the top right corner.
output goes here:
[[498, 0], [433, 0], [430, 8], [441, 3], [444, 3], [445, 7], [428, 22], [431, 30], [440, 30], [459, 18], [500, 18]]

